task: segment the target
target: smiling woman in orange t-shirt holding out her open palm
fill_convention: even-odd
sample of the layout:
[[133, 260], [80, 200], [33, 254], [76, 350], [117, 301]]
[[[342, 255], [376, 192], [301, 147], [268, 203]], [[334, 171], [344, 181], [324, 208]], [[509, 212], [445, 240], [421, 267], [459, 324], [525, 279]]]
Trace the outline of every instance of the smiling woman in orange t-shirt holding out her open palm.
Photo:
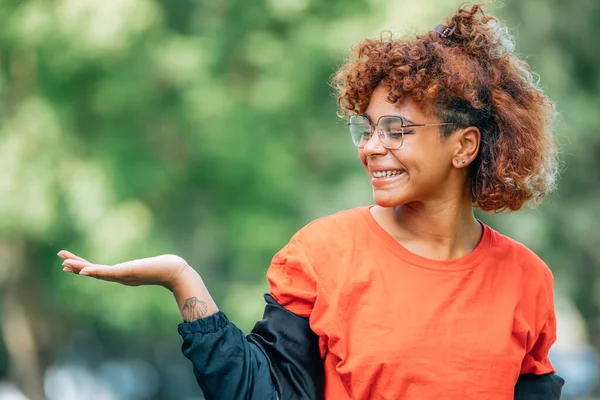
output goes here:
[[244, 337], [165, 255], [65, 271], [173, 291], [207, 398], [558, 399], [552, 274], [473, 207], [553, 187], [553, 108], [479, 6], [414, 40], [365, 40], [334, 77], [375, 206], [301, 229]]

